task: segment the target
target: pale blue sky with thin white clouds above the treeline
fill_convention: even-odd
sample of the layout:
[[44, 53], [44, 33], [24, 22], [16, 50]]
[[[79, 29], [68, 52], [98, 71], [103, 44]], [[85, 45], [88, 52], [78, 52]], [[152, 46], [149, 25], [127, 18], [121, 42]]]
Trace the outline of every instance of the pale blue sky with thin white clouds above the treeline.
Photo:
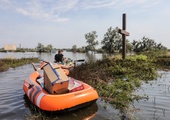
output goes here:
[[96, 31], [101, 43], [109, 27], [122, 28], [127, 39], [154, 39], [170, 48], [170, 0], [0, 0], [0, 48], [86, 46], [84, 35]]

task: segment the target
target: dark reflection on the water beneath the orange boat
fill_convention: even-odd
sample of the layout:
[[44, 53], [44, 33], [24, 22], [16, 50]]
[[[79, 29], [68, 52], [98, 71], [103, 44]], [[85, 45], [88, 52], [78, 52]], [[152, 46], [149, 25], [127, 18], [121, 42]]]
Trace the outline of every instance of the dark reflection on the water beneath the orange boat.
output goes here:
[[[23, 96], [25, 101], [24, 105], [29, 108], [30, 113], [26, 116], [27, 119], [57, 119], [57, 120], [89, 120], [92, 119], [97, 110], [98, 106], [96, 103], [89, 105], [85, 108], [78, 109], [72, 112], [46, 112], [37, 108], [34, 104], [30, 102], [26, 95]], [[57, 103], [56, 103], [57, 104]]]

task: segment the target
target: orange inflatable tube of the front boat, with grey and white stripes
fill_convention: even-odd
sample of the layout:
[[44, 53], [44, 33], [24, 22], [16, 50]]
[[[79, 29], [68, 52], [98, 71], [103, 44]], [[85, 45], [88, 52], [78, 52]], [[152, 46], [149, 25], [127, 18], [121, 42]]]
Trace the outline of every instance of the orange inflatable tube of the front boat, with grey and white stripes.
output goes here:
[[42, 110], [61, 111], [76, 108], [76, 106], [85, 105], [98, 99], [96, 90], [81, 81], [78, 82], [83, 84], [83, 90], [57, 95], [49, 94], [36, 82], [39, 76], [37, 71], [33, 72], [24, 81], [23, 90], [30, 101]]

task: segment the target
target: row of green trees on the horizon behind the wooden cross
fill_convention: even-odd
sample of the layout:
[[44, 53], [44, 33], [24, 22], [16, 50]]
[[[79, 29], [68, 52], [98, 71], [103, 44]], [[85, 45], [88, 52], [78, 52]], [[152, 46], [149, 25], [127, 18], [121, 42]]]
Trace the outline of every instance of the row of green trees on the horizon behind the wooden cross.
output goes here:
[[[99, 44], [97, 37], [97, 32], [92, 31], [91, 33], [85, 34], [87, 46], [78, 48], [73, 45], [71, 51], [76, 52], [88, 52], [95, 51], [100, 53], [105, 53], [108, 55], [113, 55], [115, 53], [122, 52], [122, 35], [118, 33], [118, 27], [109, 27], [107, 32], [104, 34], [103, 40], [101, 40], [101, 48], [96, 49], [95, 46]], [[131, 40], [132, 41], [132, 40]], [[76, 47], [75, 47], [76, 46]], [[141, 40], [130, 40], [126, 39], [126, 52], [146, 52], [146, 51], [159, 51], [166, 50], [167, 48], [161, 43], [157, 44], [153, 39], [143, 37]]]

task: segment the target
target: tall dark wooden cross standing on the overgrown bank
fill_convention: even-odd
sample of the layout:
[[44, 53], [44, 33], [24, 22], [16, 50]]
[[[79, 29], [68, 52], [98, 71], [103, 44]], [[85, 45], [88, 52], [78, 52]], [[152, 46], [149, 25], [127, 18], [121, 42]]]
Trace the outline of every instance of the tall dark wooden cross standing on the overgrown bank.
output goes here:
[[126, 36], [130, 34], [126, 31], [126, 14], [123, 14], [122, 29], [119, 29], [119, 33], [122, 34], [122, 59], [126, 56]]

